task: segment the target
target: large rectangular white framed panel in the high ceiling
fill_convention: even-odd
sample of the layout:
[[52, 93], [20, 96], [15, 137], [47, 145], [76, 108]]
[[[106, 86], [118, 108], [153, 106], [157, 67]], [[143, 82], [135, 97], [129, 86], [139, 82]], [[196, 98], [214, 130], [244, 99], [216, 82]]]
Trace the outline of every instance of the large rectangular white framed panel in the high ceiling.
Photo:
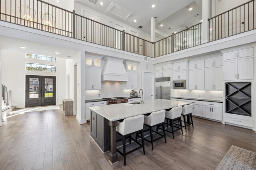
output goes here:
[[124, 7], [114, 2], [110, 4], [106, 12], [108, 12], [109, 14], [112, 14], [113, 16], [121, 18], [125, 21], [127, 21], [131, 16], [134, 15], [133, 12], [130, 12], [129, 10], [125, 9]]

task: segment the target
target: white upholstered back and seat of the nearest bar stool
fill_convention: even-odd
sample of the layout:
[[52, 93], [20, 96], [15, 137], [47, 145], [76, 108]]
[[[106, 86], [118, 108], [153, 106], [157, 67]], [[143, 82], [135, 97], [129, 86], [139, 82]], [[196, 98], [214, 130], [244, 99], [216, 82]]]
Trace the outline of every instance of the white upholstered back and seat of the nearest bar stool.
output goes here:
[[132, 132], [143, 129], [144, 115], [128, 117], [122, 122], [118, 122], [116, 130], [122, 135], [127, 135]]

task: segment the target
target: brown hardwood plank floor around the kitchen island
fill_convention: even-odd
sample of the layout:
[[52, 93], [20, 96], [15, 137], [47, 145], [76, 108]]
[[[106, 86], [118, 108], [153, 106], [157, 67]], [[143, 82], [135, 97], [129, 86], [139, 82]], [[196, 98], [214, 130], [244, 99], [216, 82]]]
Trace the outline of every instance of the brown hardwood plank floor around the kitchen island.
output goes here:
[[[194, 118], [194, 129], [122, 156], [113, 167], [90, 138], [90, 124], [79, 125], [76, 116], [62, 109], [11, 115], [0, 127], [0, 169], [118, 170], [215, 169], [231, 145], [256, 152], [254, 131]], [[132, 143], [134, 145], [134, 143]], [[127, 145], [127, 149], [132, 148]]]

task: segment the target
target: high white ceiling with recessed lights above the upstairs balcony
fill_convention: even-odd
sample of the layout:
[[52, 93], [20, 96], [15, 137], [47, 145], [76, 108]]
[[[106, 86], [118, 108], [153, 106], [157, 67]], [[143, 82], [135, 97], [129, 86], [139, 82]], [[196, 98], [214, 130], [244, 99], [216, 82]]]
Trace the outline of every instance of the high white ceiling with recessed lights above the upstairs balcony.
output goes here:
[[[171, 35], [172, 32], [181, 31], [180, 29], [185, 29], [186, 26], [190, 27], [200, 23], [202, 19], [202, 0], [99, 0], [96, 5], [88, 2], [88, 0], [75, 0], [75, 2], [132, 27], [137, 28], [142, 25], [141, 30], [149, 34], [150, 18], [156, 16], [157, 32], [160, 35], [162, 34], [163, 37]], [[100, 2], [103, 5], [100, 5]], [[106, 12], [112, 2], [133, 12], [134, 15], [125, 21]], [[155, 5], [154, 8], [152, 8], [152, 4]], [[192, 8], [192, 10], [189, 10], [189, 8]], [[199, 16], [194, 17], [196, 14], [199, 14]], [[134, 22], [134, 20], [137, 22]], [[160, 24], [163, 26], [161, 27]]]

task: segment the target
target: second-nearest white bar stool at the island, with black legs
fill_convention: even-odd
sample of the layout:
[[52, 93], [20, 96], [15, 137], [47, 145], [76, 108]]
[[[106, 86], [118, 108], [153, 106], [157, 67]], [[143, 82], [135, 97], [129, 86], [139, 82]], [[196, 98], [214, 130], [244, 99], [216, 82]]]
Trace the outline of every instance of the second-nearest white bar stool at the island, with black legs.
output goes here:
[[[150, 139], [151, 140], [148, 140], [146, 138], [144, 140], [151, 143], [152, 150], [154, 150], [153, 143], [155, 141], [164, 137], [164, 141], [166, 143], [166, 135], [165, 135], [165, 129], [164, 129], [164, 116], [165, 116], [165, 110], [154, 111], [154, 112], [150, 113], [150, 115], [148, 115], [148, 116], [145, 115], [144, 125], [149, 127], [149, 129], [144, 130], [143, 132], [150, 131]], [[164, 135], [162, 135], [161, 133], [158, 133], [158, 131], [153, 130], [154, 126], [158, 127], [160, 125], [162, 125]], [[160, 135], [160, 137], [153, 140], [153, 132]], [[140, 136], [138, 136], [138, 137], [140, 137]]]

